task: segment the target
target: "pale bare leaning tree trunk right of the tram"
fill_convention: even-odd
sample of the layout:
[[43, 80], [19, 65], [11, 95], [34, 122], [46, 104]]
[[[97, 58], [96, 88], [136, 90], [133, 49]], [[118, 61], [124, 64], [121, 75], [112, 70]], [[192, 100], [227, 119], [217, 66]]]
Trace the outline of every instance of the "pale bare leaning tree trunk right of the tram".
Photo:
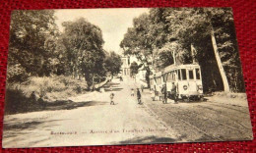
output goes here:
[[221, 73], [221, 76], [222, 76], [223, 82], [224, 82], [224, 91], [225, 92], [229, 92], [230, 89], [229, 89], [227, 78], [226, 78], [225, 73], [224, 73], [224, 67], [223, 67], [223, 64], [222, 64], [222, 61], [221, 61], [221, 57], [220, 57], [220, 54], [218, 52], [218, 47], [217, 47], [217, 43], [216, 43], [215, 33], [214, 33], [213, 27], [211, 29], [211, 38], [212, 38], [212, 42], [213, 42], [213, 48], [214, 48], [217, 64], [218, 64], [218, 67], [219, 67], [219, 70], [220, 70], [220, 73]]

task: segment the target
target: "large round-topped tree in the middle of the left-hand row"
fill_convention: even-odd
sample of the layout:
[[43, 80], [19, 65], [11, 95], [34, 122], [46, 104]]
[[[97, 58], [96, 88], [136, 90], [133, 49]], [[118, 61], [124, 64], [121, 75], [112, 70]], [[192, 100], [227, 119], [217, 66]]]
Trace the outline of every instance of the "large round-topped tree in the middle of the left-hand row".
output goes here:
[[81, 18], [63, 23], [61, 40], [65, 48], [69, 72], [73, 77], [85, 77], [90, 87], [96, 77], [104, 77], [101, 29]]

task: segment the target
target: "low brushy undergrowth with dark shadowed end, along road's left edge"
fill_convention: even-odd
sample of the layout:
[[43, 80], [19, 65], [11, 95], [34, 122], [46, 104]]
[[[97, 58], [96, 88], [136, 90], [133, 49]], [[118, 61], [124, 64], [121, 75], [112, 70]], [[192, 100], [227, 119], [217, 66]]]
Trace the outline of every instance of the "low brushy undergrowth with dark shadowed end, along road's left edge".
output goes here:
[[[7, 83], [6, 112], [18, 113], [41, 109], [41, 104], [65, 100], [83, 93], [87, 89], [85, 80], [72, 77], [29, 77], [23, 83]], [[33, 95], [33, 96], [32, 96]], [[33, 98], [32, 98], [33, 97]], [[40, 104], [38, 101], [42, 101]]]

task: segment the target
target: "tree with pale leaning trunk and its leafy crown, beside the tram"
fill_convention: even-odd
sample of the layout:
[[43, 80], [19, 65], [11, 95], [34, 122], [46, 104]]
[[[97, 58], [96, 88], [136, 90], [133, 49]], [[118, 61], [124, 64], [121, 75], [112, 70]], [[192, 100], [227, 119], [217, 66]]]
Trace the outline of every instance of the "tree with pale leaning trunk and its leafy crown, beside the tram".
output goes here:
[[[178, 37], [184, 48], [189, 48], [191, 44], [196, 46], [198, 50], [196, 58], [199, 59], [199, 62], [205, 63], [203, 60], [209, 59], [207, 56], [212, 54], [207, 55], [207, 51], [204, 50], [214, 51], [215, 60], [223, 80], [224, 91], [228, 92], [229, 83], [223, 65], [225, 62], [224, 55], [234, 53], [232, 48], [235, 41], [232, 39], [235, 35], [232, 34], [233, 31], [228, 30], [228, 28], [233, 29], [231, 26], [231, 23], [233, 23], [231, 10], [225, 8], [175, 8], [165, 10], [164, 14], [172, 36]], [[227, 39], [218, 43], [216, 34]], [[232, 34], [232, 37], [230, 37], [230, 34]], [[211, 44], [208, 43], [209, 38]], [[219, 51], [219, 48], [225, 48], [224, 52]], [[231, 56], [229, 56], [230, 59], [232, 59]]]

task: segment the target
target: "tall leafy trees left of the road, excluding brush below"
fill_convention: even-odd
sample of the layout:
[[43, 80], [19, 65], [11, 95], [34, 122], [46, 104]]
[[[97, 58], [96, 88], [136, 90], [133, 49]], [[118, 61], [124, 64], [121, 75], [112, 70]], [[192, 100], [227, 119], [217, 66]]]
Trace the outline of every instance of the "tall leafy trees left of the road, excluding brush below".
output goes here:
[[[103, 50], [101, 29], [81, 18], [56, 24], [53, 10], [14, 11], [10, 26], [8, 82], [29, 77], [84, 79], [88, 88], [120, 71], [119, 55]], [[113, 62], [114, 61], [114, 62]]]

